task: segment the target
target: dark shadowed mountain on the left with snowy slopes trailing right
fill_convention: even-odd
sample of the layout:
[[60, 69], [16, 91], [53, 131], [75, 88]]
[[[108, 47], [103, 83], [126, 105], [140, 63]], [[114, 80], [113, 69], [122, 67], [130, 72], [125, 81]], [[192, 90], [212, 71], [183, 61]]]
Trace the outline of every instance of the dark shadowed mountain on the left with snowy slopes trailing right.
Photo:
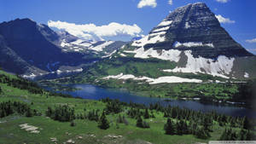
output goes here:
[[98, 45], [88, 49], [81, 44], [84, 41], [79, 37], [68, 32], [54, 32], [48, 26], [29, 19], [1, 23], [0, 36], [1, 67], [9, 72], [28, 75], [42, 75], [65, 70], [65, 67], [69, 70], [79, 68], [84, 63], [110, 55], [125, 44], [105, 44], [101, 55], [98, 55], [94, 50]]

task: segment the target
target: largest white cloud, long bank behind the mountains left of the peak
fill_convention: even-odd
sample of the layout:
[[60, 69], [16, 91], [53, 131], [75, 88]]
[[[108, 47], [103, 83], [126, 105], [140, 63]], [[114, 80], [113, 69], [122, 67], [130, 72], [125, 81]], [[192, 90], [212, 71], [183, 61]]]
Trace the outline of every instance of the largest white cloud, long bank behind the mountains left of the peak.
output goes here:
[[85, 40], [103, 40], [103, 37], [116, 37], [116, 36], [137, 36], [142, 29], [134, 25], [119, 24], [116, 22], [109, 23], [108, 25], [96, 26], [95, 24], [77, 25], [65, 21], [48, 21], [49, 27], [55, 27], [59, 30], [65, 30], [70, 34], [83, 38]]

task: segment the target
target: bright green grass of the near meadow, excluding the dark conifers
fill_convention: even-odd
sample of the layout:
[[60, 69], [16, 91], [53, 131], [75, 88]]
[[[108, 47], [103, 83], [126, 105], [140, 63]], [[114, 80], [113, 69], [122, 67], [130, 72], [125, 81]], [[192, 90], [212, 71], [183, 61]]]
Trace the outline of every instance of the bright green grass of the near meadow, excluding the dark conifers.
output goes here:
[[[15, 76], [10, 76], [15, 78]], [[29, 93], [24, 89], [16, 89], [7, 84], [0, 84], [3, 89], [0, 102], [2, 101], [22, 101], [27, 103], [32, 109], [42, 112], [42, 116], [34, 116], [26, 118], [18, 114], [13, 114], [5, 118], [0, 118], [0, 143], [55, 143], [51, 138], [56, 138], [56, 143], [67, 142], [68, 140], [75, 143], [196, 143], [207, 142], [210, 140], [218, 140], [224, 127], [218, 126], [214, 122], [211, 138], [201, 140], [195, 138], [194, 135], [165, 135], [163, 130], [166, 119], [162, 112], [155, 112], [155, 118], [149, 118], [146, 121], [150, 125], [149, 129], [136, 127], [136, 119], [129, 118], [125, 111], [119, 114], [125, 115], [129, 124], [116, 123], [117, 114], [107, 116], [110, 122], [108, 130], [101, 130], [97, 127], [95, 121], [88, 119], [76, 119], [74, 127], [70, 126], [70, 122], [61, 123], [51, 118], [45, 117], [47, 107], [55, 107], [59, 105], [68, 105], [74, 107], [75, 113], [99, 109], [101, 112], [106, 104], [102, 101], [89, 101], [74, 98], [64, 98], [59, 96], [36, 95]], [[32, 134], [29, 131], [20, 129], [20, 124], [29, 124], [38, 127], [38, 134]], [[116, 135], [116, 136], [114, 136]]]

